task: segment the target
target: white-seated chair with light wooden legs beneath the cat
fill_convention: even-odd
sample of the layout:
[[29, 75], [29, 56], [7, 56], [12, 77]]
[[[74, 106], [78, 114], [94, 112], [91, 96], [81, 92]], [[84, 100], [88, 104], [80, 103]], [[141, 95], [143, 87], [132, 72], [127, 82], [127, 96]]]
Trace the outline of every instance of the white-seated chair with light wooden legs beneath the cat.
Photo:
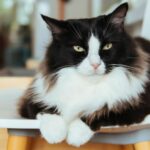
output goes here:
[[[31, 150], [33, 141], [34, 143], [39, 143], [39, 141], [35, 142], [39, 140], [36, 138], [39, 135], [39, 121], [22, 119], [17, 113], [18, 96], [22, 94], [23, 89], [28, 86], [31, 80], [32, 78], [24, 77], [0, 78], [0, 128], [8, 129], [7, 150]], [[14, 94], [14, 92], [18, 92], [17, 97], [15, 97], [16, 93]], [[150, 124], [130, 127], [107, 127], [102, 128], [90, 143], [78, 149], [92, 150], [94, 148], [94, 150], [101, 150], [102, 144], [100, 143], [107, 143], [116, 144], [109, 145], [109, 149], [112, 150], [150, 150], [150, 142], [146, 141], [150, 141]], [[46, 144], [45, 141], [44, 143]], [[108, 147], [108, 145], [106, 146]], [[48, 147], [56, 150], [76, 149], [66, 143], [49, 144]]]

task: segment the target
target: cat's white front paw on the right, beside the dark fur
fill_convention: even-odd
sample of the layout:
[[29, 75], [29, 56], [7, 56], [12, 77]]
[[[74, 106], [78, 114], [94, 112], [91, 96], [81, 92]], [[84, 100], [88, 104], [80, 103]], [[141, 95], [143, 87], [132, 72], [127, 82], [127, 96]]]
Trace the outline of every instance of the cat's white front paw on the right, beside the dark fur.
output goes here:
[[94, 132], [80, 119], [73, 121], [70, 124], [67, 136], [67, 143], [79, 147], [87, 143]]

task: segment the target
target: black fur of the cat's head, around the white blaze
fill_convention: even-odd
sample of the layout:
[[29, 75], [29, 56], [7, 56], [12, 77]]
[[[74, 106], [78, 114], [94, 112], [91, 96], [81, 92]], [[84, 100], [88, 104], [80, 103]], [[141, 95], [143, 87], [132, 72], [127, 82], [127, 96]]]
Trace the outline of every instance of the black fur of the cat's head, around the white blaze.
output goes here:
[[[107, 65], [122, 64], [132, 66], [137, 57], [133, 39], [124, 31], [124, 18], [127, 4], [123, 4], [112, 14], [90, 19], [76, 19], [58, 21], [42, 15], [53, 34], [53, 41], [48, 47], [45, 67], [47, 73], [58, 71], [67, 66], [77, 66], [88, 54], [88, 39], [91, 31], [101, 41], [101, 47], [106, 43], [113, 43], [112, 50], [100, 50], [100, 56]], [[120, 21], [118, 21], [120, 20]], [[73, 46], [80, 45], [86, 52], [77, 53]]]

